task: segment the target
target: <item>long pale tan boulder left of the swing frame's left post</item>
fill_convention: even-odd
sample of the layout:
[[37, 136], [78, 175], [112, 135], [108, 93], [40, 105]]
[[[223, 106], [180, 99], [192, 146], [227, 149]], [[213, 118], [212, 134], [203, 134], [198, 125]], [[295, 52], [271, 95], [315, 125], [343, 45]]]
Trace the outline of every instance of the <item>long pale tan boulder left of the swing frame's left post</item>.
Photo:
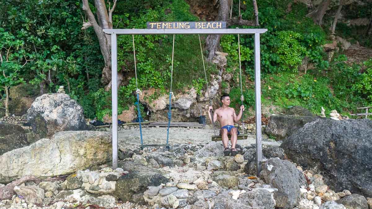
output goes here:
[[112, 160], [112, 136], [98, 131], [58, 132], [28, 147], [0, 156], [0, 183], [23, 176], [51, 177], [74, 173]]

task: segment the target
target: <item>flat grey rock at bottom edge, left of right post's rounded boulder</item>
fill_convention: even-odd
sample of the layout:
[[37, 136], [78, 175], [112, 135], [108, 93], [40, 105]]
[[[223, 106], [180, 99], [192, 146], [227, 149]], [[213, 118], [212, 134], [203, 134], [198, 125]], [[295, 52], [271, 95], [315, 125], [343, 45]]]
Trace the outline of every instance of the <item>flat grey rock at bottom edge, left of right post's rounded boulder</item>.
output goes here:
[[237, 200], [231, 198], [228, 191], [221, 192], [214, 197], [214, 209], [274, 209], [273, 194], [260, 189], [240, 194]]

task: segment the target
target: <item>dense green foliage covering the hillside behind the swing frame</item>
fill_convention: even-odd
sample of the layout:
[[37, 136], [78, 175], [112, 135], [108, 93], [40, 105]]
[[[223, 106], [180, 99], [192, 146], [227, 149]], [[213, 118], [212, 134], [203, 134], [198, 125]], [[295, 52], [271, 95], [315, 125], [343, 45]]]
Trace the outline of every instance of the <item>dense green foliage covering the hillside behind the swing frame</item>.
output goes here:
[[[321, 106], [327, 112], [337, 109], [341, 113], [354, 111], [357, 106], [372, 104], [372, 60], [363, 65], [346, 64], [347, 57], [340, 52], [327, 59], [323, 45], [328, 40], [328, 27], [332, 21], [325, 18], [321, 28], [314, 25], [302, 3], [291, 0], [257, 0], [260, 28], [268, 31], [261, 35], [262, 101], [264, 105], [288, 107], [301, 105], [312, 112]], [[233, 5], [238, 13], [238, 4]], [[354, 8], [350, 18], [368, 17], [366, 8]], [[84, 108], [87, 118], [102, 119], [111, 114], [111, 93], [100, 82], [104, 66], [99, 44], [92, 28], [81, 30], [86, 18], [81, 0], [3, 0], [0, 2], [0, 46], [12, 43], [10, 57], [13, 62], [2, 63], [7, 76], [0, 78], [0, 86], [28, 82], [41, 93], [53, 93], [65, 86], [66, 93]], [[242, 1], [242, 17], [254, 19], [251, 1]], [[353, 7], [352, 5], [346, 6]], [[355, 5], [354, 5], [355, 7]], [[368, 7], [368, 8], [367, 8]], [[92, 4], [91, 8], [94, 11]], [[334, 10], [335, 8], [332, 8]], [[336, 8], [337, 9], [337, 8]], [[146, 28], [148, 21], [197, 21], [185, 0], [118, 1], [113, 13], [113, 28]], [[231, 28], [252, 28], [233, 25]], [[371, 47], [371, 38], [358, 38], [355, 26], [339, 23], [336, 34], [352, 37], [355, 42]], [[201, 36], [204, 45], [206, 36]], [[9, 41], [9, 43], [7, 42]], [[170, 88], [173, 36], [135, 35], [138, 87]], [[224, 35], [221, 47], [227, 52], [226, 73], [237, 81], [239, 75], [237, 35]], [[240, 36], [243, 70], [244, 104], [254, 107], [254, 40], [251, 35]], [[206, 55], [208, 52], [203, 51]], [[2, 51], [4, 56], [4, 49]], [[306, 74], [302, 70], [304, 58], [314, 65]], [[26, 60], [30, 60], [25, 64]], [[32, 61], [31, 61], [32, 60]], [[135, 105], [137, 88], [134, 73], [132, 36], [118, 36], [118, 68], [125, 79], [118, 93], [118, 112]], [[206, 63], [207, 74], [217, 74], [214, 65]], [[15, 72], [15, 73], [12, 73]], [[210, 80], [210, 77], [207, 78]], [[8, 83], [6, 83], [8, 82]], [[173, 91], [194, 87], [198, 93], [205, 88], [198, 35], [176, 35], [173, 62]], [[10, 85], [10, 86], [11, 86]], [[221, 83], [223, 91], [231, 90], [232, 106], [240, 104], [240, 85]], [[1, 95], [4, 95], [2, 91]], [[158, 93], [147, 96], [155, 100]], [[140, 107], [142, 110], [145, 108]], [[143, 112], [143, 111], [142, 111]], [[327, 113], [326, 112], [326, 113]]]

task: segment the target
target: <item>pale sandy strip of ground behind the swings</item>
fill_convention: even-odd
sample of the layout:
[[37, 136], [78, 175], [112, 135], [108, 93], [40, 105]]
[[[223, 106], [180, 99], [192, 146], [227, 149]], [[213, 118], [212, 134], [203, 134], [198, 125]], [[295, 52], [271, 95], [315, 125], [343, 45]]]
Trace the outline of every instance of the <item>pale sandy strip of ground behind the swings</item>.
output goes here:
[[[216, 133], [218, 130], [216, 129]], [[205, 128], [174, 128], [169, 129], [169, 144], [206, 144], [211, 141], [211, 136], [214, 135], [213, 129], [206, 126]], [[142, 128], [142, 138], [144, 144], [166, 144], [167, 128], [166, 127], [146, 127]], [[262, 143], [266, 145], [280, 146], [281, 142], [268, 140], [267, 135], [263, 134]], [[125, 147], [139, 147], [140, 129], [121, 129], [118, 131], [118, 144]], [[221, 142], [222, 143], [222, 142]], [[238, 140], [241, 146], [256, 144], [256, 135], [248, 133], [248, 139]]]

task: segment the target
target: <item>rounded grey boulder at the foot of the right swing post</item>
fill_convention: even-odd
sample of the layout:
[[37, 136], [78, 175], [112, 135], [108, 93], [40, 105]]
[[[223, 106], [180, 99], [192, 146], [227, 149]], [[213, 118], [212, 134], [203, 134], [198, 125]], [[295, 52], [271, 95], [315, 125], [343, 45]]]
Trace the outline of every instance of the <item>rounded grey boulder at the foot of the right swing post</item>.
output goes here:
[[[283, 194], [278, 198], [283, 199], [285, 197], [286, 199], [285, 204], [276, 205], [276, 207], [292, 209], [297, 205], [301, 197], [299, 175], [298, 169], [288, 160], [270, 158], [263, 165], [260, 177], [271, 187], [277, 188], [278, 193]], [[274, 197], [276, 198], [276, 196]]]

